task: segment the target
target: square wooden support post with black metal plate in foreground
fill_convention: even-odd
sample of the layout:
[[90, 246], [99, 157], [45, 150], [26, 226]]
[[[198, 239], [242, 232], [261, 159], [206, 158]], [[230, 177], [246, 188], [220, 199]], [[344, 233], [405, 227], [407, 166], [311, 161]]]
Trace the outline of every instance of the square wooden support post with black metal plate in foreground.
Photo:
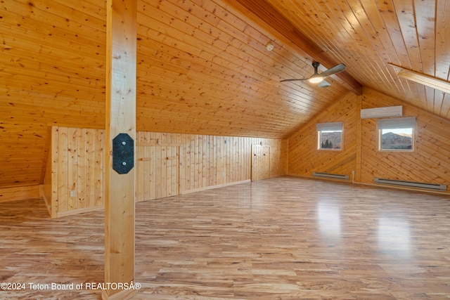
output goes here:
[[[136, 1], [107, 1], [105, 129], [105, 287], [103, 299], [129, 299], [134, 282], [135, 168], [113, 169], [113, 139], [126, 133], [136, 154]], [[124, 136], [124, 135], [121, 135]], [[130, 141], [130, 140], [129, 140]], [[127, 141], [127, 145], [129, 145]], [[116, 145], [116, 144], [115, 144]], [[122, 142], [120, 142], [122, 145]], [[116, 148], [117, 149], [117, 146]], [[129, 153], [127, 155], [129, 157]], [[120, 165], [123, 165], [120, 162]], [[127, 164], [130, 166], [130, 164]], [[123, 173], [124, 172], [124, 173]]]

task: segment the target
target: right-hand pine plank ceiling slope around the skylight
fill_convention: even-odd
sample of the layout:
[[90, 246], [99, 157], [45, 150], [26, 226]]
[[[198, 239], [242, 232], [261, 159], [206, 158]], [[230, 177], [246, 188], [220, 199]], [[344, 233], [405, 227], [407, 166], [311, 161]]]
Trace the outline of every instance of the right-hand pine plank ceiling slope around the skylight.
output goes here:
[[390, 64], [449, 81], [450, 1], [266, 0], [363, 85], [450, 118], [450, 95]]

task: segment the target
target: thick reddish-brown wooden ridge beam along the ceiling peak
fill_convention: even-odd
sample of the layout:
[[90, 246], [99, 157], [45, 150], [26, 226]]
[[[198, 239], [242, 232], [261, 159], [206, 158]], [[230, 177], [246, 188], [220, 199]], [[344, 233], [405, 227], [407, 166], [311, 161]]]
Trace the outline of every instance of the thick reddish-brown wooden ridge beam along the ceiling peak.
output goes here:
[[[321, 65], [330, 68], [338, 65], [333, 58], [323, 51], [317, 44], [304, 35], [297, 27], [278, 13], [270, 4], [262, 0], [224, 0], [226, 4], [249, 18], [255, 25], [274, 35], [284, 44], [295, 48], [302, 56], [318, 61]], [[336, 74], [349, 90], [356, 95], [362, 94], [362, 85], [348, 72]]]

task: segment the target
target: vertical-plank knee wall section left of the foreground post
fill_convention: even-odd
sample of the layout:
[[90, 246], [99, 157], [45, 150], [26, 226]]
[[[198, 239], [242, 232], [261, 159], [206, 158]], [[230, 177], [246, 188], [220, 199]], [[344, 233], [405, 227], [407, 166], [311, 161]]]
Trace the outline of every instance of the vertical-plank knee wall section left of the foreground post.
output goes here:
[[53, 127], [49, 164], [44, 196], [53, 218], [103, 207], [103, 129]]

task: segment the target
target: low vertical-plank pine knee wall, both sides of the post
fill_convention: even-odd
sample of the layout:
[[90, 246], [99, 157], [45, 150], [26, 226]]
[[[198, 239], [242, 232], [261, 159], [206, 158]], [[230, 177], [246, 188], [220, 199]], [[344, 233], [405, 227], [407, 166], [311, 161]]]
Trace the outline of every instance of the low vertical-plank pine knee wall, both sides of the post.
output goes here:
[[[136, 201], [249, 181], [252, 145], [270, 148], [270, 177], [285, 174], [287, 140], [137, 132]], [[103, 207], [103, 130], [53, 127], [49, 152], [44, 196], [51, 216]]]

